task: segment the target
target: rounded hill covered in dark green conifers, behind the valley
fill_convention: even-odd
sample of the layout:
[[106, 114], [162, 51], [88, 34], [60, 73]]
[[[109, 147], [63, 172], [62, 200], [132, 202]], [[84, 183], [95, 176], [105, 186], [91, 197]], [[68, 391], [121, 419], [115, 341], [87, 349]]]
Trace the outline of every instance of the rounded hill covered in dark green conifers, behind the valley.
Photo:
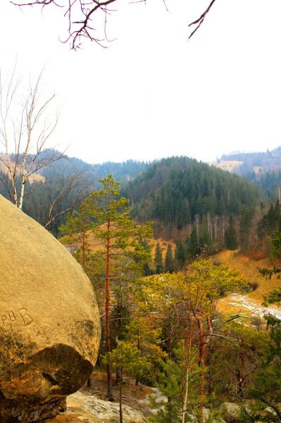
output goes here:
[[159, 219], [178, 229], [196, 215], [240, 215], [245, 208], [254, 209], [261, 195], [244, 178], [187, 157], [152, 164], [122, 194], [130, 198], [140, 221]]

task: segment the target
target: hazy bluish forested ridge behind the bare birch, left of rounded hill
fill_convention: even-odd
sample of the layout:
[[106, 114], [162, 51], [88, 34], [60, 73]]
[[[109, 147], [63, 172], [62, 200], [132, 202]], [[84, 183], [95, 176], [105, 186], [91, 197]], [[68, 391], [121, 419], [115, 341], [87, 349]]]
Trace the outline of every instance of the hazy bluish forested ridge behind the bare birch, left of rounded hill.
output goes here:
[[[57, 154], [58, 153], [58, 154]], [[42, 152], [41, 159], [53, 155], [59, 156], [56, 150]], [[33, 156], [27, 159], [32, 161]], [[15, 161], [13, 155], [11, 160]], [[21, 157], [19, 157], [18, 171], [16, 172], [15, 183], [21, 177]], [[88, 164], [76, 157], [64, 157], [57, 161], [42, 166], [36, 173], [27, 179], [25, 184], [25, 197], [23, 200], [23, 212], [41, 223], [43, 226], [51, 224], [54, 227], [53, 216], [56, 219], [56, 231], [63, 219], [64, 211], [77, 207], [80, 200], [91, 190], [99, 187], [99, 179], [104, 178], [108, 173], [113, 178], [125, 185], [129, 180], [135, 178], [139, 173], [149, 168], [150, 164], [142, 161], [127, 160], [122, 163], [106, 162], [104, 164]], [[0, 167], [0, 194], [10, 200], [11, 180], [5, 167]], [[51, 223], [48, 223], [51, 221]]]

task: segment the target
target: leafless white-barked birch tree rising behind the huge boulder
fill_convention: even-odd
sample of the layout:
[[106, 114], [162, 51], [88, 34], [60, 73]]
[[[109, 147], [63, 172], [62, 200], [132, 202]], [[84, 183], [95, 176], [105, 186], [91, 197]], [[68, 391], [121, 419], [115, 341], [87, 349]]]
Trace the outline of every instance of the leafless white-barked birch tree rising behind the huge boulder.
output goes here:
[[19, 209], [23, 208], [27, 180], [32, 182], [39, 169], [65, 157], [47, 147], [58, 115], [49, 118], [54, 94], [43, 99], [41, 82], [42, 72], [23, 94], [15, 67], [6, 80], [0, 71], [0, 181]]

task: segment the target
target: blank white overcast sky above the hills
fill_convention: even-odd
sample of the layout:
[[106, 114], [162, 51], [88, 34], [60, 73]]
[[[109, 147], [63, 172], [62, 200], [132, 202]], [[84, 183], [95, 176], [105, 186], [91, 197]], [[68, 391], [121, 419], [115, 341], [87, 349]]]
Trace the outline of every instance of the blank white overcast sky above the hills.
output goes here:
[[[63, 0], [62, 0], [63, 1]], [[184, 154], [211, 161], [234, 150], [281, 145], [281, 2], [217, 0], [130, 4], [108, 20], [108, 49], [70, 51], [56, 7], [0, 2], [0, 67], [21, 75], [44, 66], [61, 118], [53, 145], [91, 163]], [[115, 6], [118, 6], [116, 4]]]

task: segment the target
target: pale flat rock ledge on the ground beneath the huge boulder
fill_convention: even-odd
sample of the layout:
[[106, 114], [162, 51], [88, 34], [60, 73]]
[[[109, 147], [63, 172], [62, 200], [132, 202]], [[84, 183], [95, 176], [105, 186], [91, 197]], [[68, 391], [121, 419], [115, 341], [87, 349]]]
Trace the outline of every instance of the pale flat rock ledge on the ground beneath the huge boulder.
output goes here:
[[[67, 398], [67, 410], [46, 423], [113, 423], [119, 422], [119, 404], [110, 403], [80, 391]], [[146, 423], [142, 412], [123, 404], [124, 423]]]

